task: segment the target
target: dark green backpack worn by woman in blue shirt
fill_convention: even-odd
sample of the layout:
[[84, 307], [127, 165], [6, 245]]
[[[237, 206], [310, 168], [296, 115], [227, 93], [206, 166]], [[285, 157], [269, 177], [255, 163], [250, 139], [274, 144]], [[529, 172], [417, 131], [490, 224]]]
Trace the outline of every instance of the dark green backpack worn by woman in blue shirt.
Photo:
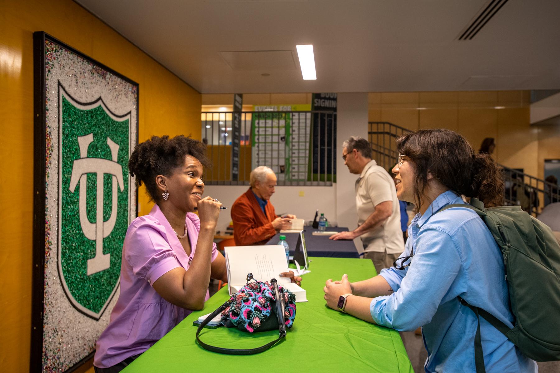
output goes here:
[[[500, 206], [489, 209], [478, 199], [468, 207], [482, 218], [503, 254], [503, 266], [510, 292], [514, 328], [493, 317], [487, 311], [466, 303], [496, 329], [500, 330], [524, 355], [535, 361], [560, 360], [560, 245], [552, 230], [533, 218], [520, 206]], [[477, 373], [485, 372], [480, 320], [474, 340]]]

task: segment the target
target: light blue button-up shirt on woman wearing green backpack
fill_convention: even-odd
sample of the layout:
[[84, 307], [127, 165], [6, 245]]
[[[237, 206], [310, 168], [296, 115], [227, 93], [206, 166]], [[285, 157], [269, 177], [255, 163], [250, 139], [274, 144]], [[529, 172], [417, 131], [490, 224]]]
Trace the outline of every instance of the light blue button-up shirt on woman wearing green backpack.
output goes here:
[[[461, 207], [435, 214], [446, 205], [464, 203], [447, 191], [426, 213], [414, 217], [402, 255], [413, 249], [410, 266], [382, 270], [394, 292], [374, 298], [370, 305], [379, 325], [396, 330], [422, 326], [426, 372], [476, 371], [477, 317], [459, 303], [459, 296], [513, 327], [502, 254], [482, 219]], [[488, 373], [538, 371], [533, 360], [482, 317], [480, 333]]]

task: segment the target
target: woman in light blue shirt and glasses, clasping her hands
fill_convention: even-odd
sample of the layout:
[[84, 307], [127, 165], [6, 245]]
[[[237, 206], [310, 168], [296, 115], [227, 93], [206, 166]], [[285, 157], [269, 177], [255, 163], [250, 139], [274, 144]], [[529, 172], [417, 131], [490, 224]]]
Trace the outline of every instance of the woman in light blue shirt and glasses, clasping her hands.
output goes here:
[[[477, 317], [461, 305], [487, 310], [512, 327], [500, 248], [461, 196], [486, 207], [502, 205], [500, 169], [488, 154], [475, 154], [463, 136], [445, 129], [420, 130], [397, 140], [396, 190], [399, 200], [419, 210], [395, 266], [359, 282], [326, 281], [325, 300], [339, 310], [396, 330], [422, 327], [426, 372], [475, 372]], [[342, 302], [344, 303], [344, 302]], [[340, 304], [342, 304], [340, 303]], [[480, 318], [484, 364], [489, 372], [536, 372], [536, 363]]]

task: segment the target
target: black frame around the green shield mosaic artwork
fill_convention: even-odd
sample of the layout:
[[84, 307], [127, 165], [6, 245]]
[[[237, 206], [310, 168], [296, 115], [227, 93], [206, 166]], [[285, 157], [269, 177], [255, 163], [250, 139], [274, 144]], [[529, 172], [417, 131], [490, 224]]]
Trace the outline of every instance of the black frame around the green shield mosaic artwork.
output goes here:
[[[137, 103], [139, 102], [138, 83], [125, 77], [104, 64], [88, 57], [71, 46], [46, 34], [44, 31], [33, 33], [33, 64], [34, 64], [34, 180], [33, 180], [33, 269], [31, 292], [31, 354], [30, 371], [39, 372], [43, 369], [43, 310], [44, 310], [44, 277], [45, 277], [45, 177], [46, 177], [46, 95], [45, 95], [45, 40], [60, 45], [97, 67], [116, 75], [137, 87]], [[136, 133], [138, 138], [139, 105], [136, 105]], [[138, 205], [138, 193], [136, 193]], [[82, 366], [94, 356], [95, 351], [83, 357], [66, 373]]]

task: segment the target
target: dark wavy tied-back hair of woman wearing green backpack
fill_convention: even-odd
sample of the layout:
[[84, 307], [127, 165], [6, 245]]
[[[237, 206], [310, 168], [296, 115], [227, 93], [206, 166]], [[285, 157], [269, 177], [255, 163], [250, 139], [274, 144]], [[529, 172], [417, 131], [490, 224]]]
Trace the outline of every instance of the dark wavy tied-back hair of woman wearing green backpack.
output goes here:
[[501, 169], [488, 154], [475, 154], [460, 134], [446, 129], [419, 130], [396, 140], [414, 170], [414, 204], [420, 206], [428, 172], [450, 190], [475, 197], [484, 206], [503, 205]]

